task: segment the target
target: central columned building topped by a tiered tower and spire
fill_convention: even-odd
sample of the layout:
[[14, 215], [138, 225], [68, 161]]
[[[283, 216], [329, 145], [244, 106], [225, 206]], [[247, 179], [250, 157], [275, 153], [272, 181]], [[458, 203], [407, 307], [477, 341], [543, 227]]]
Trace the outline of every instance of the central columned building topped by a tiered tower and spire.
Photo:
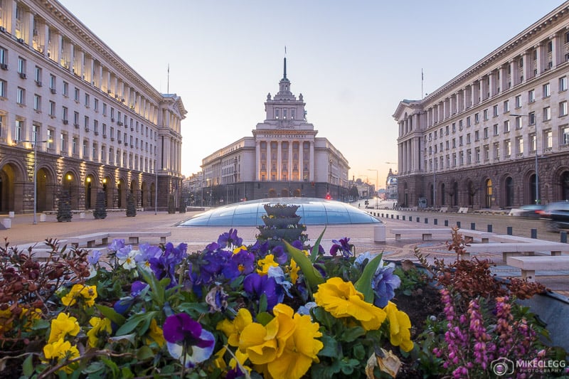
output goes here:
[[265, 101], [265, 120], [243, 137], [202, 161], [203, 202], [235, 203], [274, 197], [344, 200], [348, 161], [307, 122], [302, 93], [287, 78], [287, 58], [279, 92]]

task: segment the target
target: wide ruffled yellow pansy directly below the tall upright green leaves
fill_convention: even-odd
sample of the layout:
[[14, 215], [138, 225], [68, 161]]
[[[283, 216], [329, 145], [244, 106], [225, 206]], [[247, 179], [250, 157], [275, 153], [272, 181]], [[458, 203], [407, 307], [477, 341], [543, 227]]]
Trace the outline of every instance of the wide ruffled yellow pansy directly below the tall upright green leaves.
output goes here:
[[314, 294], [318, 306], [329, 311], [336, 319], [353, 317], [360, 321], [363, 329], [379, 329], [385, 321], [385, 311], [368, 303], [363, 294], [353, 287], [352, 282], [344, 282], [339, 277], [333, 277], [326, 283], [319, 284], [318, 292]]

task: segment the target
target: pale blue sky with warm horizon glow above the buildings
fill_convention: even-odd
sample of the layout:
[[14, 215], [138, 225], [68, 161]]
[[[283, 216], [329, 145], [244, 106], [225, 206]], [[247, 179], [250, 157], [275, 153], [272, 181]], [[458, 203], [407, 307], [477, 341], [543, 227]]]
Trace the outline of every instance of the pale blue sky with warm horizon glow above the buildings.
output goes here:
[[304, 96], [317, 136], [344, 154], [350, 178], [376, 183], [377, 170], [381, 188], [397, 169], [400, 100], [436, 90], [563, 1], [60, 3], [156, 90], [181, 96], [182, 174], [252, 136], [267, 93], [278, 91], [286, 46], [291, 90]]

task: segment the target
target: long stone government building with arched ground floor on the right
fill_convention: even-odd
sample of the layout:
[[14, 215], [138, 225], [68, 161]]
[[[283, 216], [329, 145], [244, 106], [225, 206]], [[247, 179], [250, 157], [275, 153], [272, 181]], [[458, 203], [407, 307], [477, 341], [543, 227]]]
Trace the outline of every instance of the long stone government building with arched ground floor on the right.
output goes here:
[[511, 208], [569, 199], [569, 2], [398, 122], [398, 202]]

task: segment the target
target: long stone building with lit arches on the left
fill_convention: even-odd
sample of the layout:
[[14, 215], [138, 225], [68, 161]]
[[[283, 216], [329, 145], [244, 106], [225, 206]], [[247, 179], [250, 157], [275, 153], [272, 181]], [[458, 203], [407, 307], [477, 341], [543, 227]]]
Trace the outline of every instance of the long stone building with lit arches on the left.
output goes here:
[[63, 191], [73, 209], [97, 191], [107, 208], [127, 193], [166, 207], [185, 114], [58, 1], [0, 1], [0, 213], [53, 210]]

